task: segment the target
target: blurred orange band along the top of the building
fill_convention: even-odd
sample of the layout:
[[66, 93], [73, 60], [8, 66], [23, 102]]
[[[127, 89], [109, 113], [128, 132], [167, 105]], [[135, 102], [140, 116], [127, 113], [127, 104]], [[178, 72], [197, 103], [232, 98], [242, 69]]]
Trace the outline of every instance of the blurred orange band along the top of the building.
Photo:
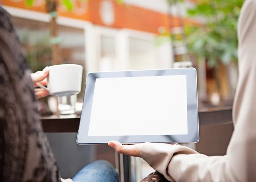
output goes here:
[[[21, 9], [27, 9], [25, 5], [26, 0], [2, 0], [3, 5], [12, 6]], [[87, 2], [81, 2], [80, 0], [75, 0], [76, 4], [72, 11], [67, 11], [63, 6], [58, 8], [59, 15], [64, 17], [76, 18], [79, 20], [87, 20], [93, 24], [106, 26], [102, 22], [100, 16], [100, 4], [103, 0], [89, 0]], [[109, 0], [111, 1], [111, 0]], [[45, 12], [45, 0], [35, 0], [35, 4], [30, 7], [30, 10]], [[160, 26], [169, 29], [168, 25], [168, 15], [159, 13], [156, 11], [151, 11], [149, 9], [140, 8], [137, 6], [131, 6], [126, 4], [117, 4], [113, 0], [114, 9], [114, 22], [108, 27], [112, 28], [130, 28], [139, 31], [146, 31], [151, 33], [158, 33], [157, 29]], [[177, 22], [178, 17], [175, 18]], [[185, 23], [196, 23], [190, 20], [185, 20]], [[197, 24], [197, 23], [196, 23]], [[178, 26], [177, 23], [172, 25], [174, 27]]]

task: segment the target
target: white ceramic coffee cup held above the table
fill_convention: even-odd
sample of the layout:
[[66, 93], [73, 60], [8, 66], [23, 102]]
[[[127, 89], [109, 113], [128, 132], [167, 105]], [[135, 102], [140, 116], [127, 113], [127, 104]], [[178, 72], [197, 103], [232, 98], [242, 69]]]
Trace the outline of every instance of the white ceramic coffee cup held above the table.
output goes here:
[[55, 97], [70, 96], [81, 92], [83, 67], [75, 64], [49, 66], [47, 77], [47, 88], [37, 83], [37, 85]]

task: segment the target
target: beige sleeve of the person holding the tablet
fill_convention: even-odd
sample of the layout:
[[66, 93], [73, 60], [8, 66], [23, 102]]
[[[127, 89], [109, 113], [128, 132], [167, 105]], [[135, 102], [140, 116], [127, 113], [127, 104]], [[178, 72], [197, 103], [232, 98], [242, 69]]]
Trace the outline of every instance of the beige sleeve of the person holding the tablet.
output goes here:
[[179, 145], [145, 143], [141, 156], [175, 182], [256, 181], [256, 0], [239, 17], [239, 81], [233, 105], [235, 130], [225, 156], [205, 156]]

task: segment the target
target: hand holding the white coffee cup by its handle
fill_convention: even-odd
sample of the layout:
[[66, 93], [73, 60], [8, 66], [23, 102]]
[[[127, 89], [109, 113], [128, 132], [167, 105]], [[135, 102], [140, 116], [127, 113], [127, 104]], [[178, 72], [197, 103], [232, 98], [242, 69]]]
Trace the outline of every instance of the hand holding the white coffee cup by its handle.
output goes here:
[[[31, 78], [34, 83], [34, 87], [38, 86], [36, 83], [41, 83], [42, 85], [46, 85], [46, 78], [47, 78], [48, 74], [49, 74], [48, 67], [44, 68], [43, 71], [37, 71], [35, 73], [32, 73]], [[37, 99], [39, 99], [41, 97], [46, 97], [47, 95], [49, 95], [49, 93], [42, 88], [35, 88], [34, 91], [35, 91], [35, 97]]]

